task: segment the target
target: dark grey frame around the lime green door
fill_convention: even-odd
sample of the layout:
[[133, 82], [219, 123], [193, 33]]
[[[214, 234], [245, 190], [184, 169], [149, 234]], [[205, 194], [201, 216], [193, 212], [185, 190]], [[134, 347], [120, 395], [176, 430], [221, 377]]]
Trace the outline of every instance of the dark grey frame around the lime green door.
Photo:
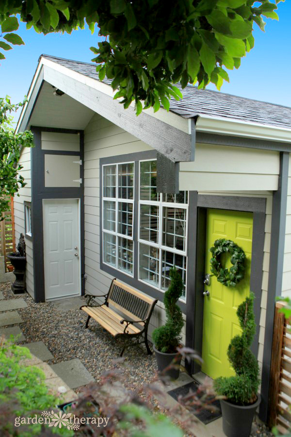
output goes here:
[[[209, 198], [209, 199], [208, 199]], [[220, 199], [221, 198], [221, 199]], [[242, 199], [248, 199], [243, 202]], [[220, 204], [221, 200], [221, 204]], [[242, 201], [242, 202], [241, 202]], [[241, 202], [240, 209], [237, 203]], [[226, 209], [235, 211], [253, 212], [253, 241], [252, 241], [252, 262], [250, 290], [255, 294], [254, 312], [257, 324], [256, 335], [251, 350], [257, 356], [259, 348], [259, 319], [261, 302], [261, 283], [263, 274], [263, 253], [264, 253], [264, 230], [265, 230], [265, 198], [243, 198], [234, 196], [197, 196], [197, 220], [193, 221], [193, 249], [196, 250], [196, 262], [194, 266], [193, 292], [187, 296], [187, 324], [186, 324], [186, 346], [195, 349], [202, 354], [202, 326], [203, 306], [202, 296], [203, 278], [205, 274], [205, 241], [206, 241], [206, 214], [207, 208]], [[242, 209], [245, 208], [245, 209]], [[258, 211], [259, 210], [259, 211]], [[193, 213], [194, 215], [194, 213]], [[190, 231], [189, 227], [189, 232]], [[189, 270], [188, 270], [189, 271]], [[189, 274], [189, 273], [188, 273]], [[197, 292], [196, 292], [197, 291]], [[193, 317], [194, 315], [194, 317]], [[189, 320], [193, 319], [188, 327]], [[190, 373], [200, 370], [198, 363], [187, 365]]]

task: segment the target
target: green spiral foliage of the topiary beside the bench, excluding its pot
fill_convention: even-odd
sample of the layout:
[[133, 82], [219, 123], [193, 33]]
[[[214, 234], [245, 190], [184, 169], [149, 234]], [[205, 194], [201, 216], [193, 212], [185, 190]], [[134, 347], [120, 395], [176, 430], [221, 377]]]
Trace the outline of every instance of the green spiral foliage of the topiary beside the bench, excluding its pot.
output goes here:
[[183, 328], [182, 311], [177, 305], [183, 293], [183, 281], [178, 270], [170, 269], [171, 284], [164, 295], [166, 323], [153, 331], [153, 340], [158, 351], [175, 353], [181, 340]]

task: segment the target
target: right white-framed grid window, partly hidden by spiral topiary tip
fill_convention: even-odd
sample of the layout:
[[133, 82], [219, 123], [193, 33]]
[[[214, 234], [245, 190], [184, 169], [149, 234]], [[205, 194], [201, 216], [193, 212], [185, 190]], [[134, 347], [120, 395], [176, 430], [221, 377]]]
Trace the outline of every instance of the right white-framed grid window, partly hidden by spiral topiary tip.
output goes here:
[[186, 301], [188, 192], [157, 192], [157, 161], [139, 163], [138, 279], [165, 291], [169, 271], [176, 266], [181, 274]]

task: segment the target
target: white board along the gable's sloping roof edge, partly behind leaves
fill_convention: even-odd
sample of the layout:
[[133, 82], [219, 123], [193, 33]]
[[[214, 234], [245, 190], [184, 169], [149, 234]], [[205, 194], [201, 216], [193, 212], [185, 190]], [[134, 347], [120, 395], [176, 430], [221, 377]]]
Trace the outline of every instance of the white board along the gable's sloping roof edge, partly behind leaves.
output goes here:
[[[65, 74], [68, 77], [71, 77], [72, 79], [75, 79], [76, 81], [81, 82], [82, 84], [88, 85], [91, 88], [97, 89], [98, 91], [110, 96], [114, 97], [114, 94], [116, 91], [113, 91], [112, 87], [108, 84], [105, 84], [104, 82], [97, 81], [96, 79], [93, 79], [91, 77], [85, 76], [84, 74], [81, 74], [75, 70], [71, 70], [70, 68], [64, 67], [63, 65], [57, 64], [56, 62], [50, 61], [47, 58], [41, 58], [40, 63], [42, 65], [48, 66], [50, 68], [53, 68], [56, 71], [59, 71], [60, 73]], [[119, 99], [120, 100], [120, 99]], [[134, 102], [131, 103], [131, 105], [134, 106]], [[170, 126], [175, 127], [176, 129], [185, 132], [186, 134], [189, 133], [189, 127], [188, 127], [188, 119], [180, 117], [178, 114], [173, 114], [170, 112], [167, 112], [165, 109], [160, 108], [158, 112], [154, 113], [152, 108], [149, 108], [145, 111], [146, 114], [157, 118], [161, 121], [163, 121], [166, 124], [169, 124]]]

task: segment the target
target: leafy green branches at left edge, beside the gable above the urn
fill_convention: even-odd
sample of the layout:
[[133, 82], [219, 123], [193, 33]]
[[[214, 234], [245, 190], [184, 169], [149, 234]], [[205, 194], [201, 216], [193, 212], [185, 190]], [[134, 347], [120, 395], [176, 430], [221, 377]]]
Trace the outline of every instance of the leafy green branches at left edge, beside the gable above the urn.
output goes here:
[[24, 187], [23, 176], [18, 172], [23, 168], [18, 164], [23, 147], [33, 147], [33, 135], [30, 131], [14, 134], [11, 112], [17, 111], [26, 102], [12, 104], [10, 97], [0, 98], [0, 219], [1, 213], [8, 211], [10, 196], [18, 194], [19, 187]]

